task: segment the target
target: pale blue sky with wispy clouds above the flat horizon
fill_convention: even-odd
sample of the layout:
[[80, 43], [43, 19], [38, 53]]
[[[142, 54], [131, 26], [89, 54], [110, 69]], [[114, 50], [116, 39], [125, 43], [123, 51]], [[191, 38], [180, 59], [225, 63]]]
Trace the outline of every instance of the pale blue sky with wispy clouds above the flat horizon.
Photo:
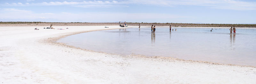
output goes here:
[[0, 0], [0, 21], [256, 23], [256, 0]]

